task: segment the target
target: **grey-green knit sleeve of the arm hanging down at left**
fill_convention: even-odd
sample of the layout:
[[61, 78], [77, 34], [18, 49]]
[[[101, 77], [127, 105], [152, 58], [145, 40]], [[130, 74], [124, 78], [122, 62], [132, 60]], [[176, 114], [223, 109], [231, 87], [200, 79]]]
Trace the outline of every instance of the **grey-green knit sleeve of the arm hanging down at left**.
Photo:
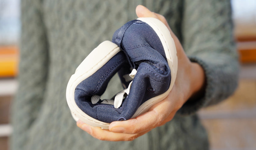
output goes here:
[[[39, 0], [21, 1], [21, 39], [18, 90], [12, 104], [13, 147], [23, 147], [45, 92], [48, 44]], [[22, 148], [21, 148], [22, 149]]]

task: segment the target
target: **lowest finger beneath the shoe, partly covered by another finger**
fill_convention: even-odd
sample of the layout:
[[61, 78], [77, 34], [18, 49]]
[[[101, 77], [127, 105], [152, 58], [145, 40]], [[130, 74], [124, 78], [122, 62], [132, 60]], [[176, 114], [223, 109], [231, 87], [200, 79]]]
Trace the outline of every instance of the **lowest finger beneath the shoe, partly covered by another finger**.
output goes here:
[[81, 128], [83, 131], [86, 131], [92, 137], [99, 140], [107, 141], [132, 141], [139, 136], [149, 132], [150, 130], [138, 133], [138, 134], [125, 134], [125, 133], [115, 133], [109, 130], [101, 129], [100, 127], [92, 127], [83, 123], [82, 121], [76, 122], [76, 125]]

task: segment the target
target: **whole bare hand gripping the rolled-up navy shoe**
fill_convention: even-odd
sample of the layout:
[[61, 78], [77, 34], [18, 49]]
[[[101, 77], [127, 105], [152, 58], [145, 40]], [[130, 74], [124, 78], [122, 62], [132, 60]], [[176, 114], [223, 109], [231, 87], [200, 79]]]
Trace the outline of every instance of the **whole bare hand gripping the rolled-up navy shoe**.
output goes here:
[[163, 101], [152, 106], [148, 112], [134, 119], [112, 122], [109, 125], [109, 130], [89, 126], [80, 120], [77, 122], [78, 127], [99, 140], [134, 140], [153, 128], [169, 122], [189, 98], [195, 97], [204, 88], [205, 75], [203, 69], [199, 64], [192, 63], [186, 56], [179, 39], [173, 34], [164, 16], [151, 12], [142, 5], [136, 7], [136, 14], [138, 17], [157, 18], [169, 29], [175, 42], [178, 57], [176, 81], [169, 95]]

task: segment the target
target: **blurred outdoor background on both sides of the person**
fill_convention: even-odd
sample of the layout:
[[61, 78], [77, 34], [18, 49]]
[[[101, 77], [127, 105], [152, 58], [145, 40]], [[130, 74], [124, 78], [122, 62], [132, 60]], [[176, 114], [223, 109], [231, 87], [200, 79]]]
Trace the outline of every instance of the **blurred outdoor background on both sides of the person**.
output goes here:
[[[256, 149], [256, 1], [231, 0], [240, 54], [239, 87], [222, 103], [199, 111], [211, 150]], [[8, 149], [9, 111], [17, 89], [20, 0], [0, 0], [0, 149]]]

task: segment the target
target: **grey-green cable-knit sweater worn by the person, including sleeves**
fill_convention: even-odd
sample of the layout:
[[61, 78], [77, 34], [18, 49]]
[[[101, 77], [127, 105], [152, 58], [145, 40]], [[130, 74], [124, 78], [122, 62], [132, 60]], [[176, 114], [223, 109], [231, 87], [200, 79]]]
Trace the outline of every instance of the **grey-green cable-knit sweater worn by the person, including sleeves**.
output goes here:
[[[166, 125], [134, 141], [100, 141], [76, 127], [66, 102], [67, 82], [92, 49], [111, 41], [115, 30], [136, 19], [138, 4], [167, 18], [191, 61], [204, 68], [205, 94], [184, 104]], [[21, 11], [19, 88], [12, 109], [11, 149], [208, 149], [207, 134], [195, 112], [227, 98], [237, 84], [229, 1], [23, 0]], [[116, 92], [120, 85], [117, 78], [111, 81], [108, 93]]]

